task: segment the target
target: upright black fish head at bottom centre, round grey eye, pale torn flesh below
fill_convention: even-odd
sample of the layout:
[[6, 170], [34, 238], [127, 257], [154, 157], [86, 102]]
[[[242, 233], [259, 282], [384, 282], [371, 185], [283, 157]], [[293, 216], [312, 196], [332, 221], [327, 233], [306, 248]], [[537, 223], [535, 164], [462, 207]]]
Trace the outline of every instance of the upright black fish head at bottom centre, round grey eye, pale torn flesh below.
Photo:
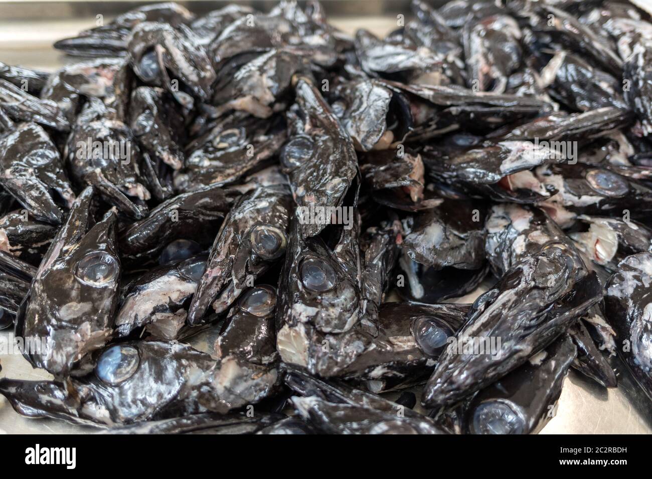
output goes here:
[[[341, 229], [333, 248], [319, 237], [302, 240], [301, 226], [293, 218], [279, 283], [276, 349], [282, 361], [328, 377], [338, 374], [361, 353], [376, 325], [361, 317], [364, 298], [358, 226]], [[332, 269], [332, 287], [327, 291], [307, 287], [301, 278], [301, 266], [306, 261]]]

